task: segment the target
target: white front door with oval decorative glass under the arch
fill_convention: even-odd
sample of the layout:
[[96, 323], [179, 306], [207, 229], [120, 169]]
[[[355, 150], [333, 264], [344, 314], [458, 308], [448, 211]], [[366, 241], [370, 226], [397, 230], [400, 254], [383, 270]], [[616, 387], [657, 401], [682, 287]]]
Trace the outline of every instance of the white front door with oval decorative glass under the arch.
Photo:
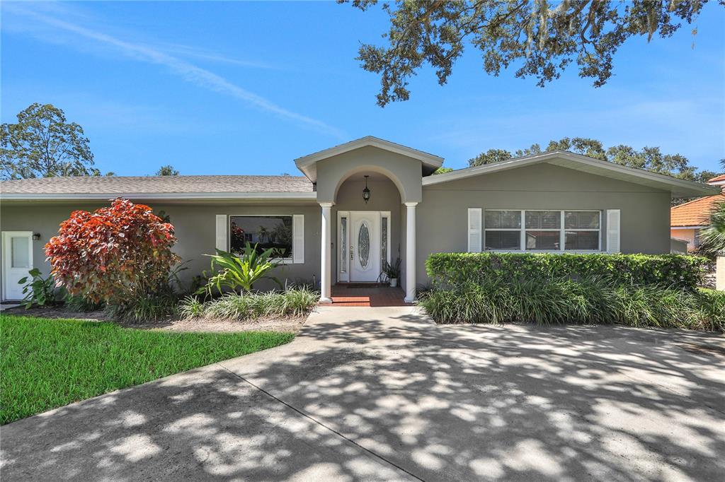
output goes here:
[[380, 212], [350, 212], [351, 282], [376, 282], [380, 276]]

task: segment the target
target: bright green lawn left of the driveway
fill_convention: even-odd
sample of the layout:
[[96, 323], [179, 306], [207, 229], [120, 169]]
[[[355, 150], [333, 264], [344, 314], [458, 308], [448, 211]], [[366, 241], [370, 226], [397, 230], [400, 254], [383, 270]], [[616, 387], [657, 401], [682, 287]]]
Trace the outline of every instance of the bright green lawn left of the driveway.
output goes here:
[[291, 333], [168, 333], [0, 315], [0, 425], [293, 338]]

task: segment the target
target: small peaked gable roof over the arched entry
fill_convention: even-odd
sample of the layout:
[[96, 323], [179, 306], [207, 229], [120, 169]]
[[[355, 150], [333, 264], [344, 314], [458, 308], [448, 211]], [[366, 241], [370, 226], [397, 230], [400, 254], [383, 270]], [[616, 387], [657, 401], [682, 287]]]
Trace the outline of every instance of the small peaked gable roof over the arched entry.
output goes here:
[[407, 147], [407, 145], [393, 143], [389, 140], [376, 138], [372, 135], [366, 135], [364, 138], [351, 140], [349, 143], [335, 145], [334, 147], [325, 149], [324, 151], [318, 151], [307, 156], [302, 156], [294, 160], [294, 164], [297, 165], [297, 169], [302, 171], [305, 176], [312, 181], [317, 180], [317, 163], [323, 159], [339, 156], [340, 154], [354, 151], [355, 149], [363, 147], [376, 147], [384, 151], [394, 152], [407, 156], [410, 158], [418, 159], [423, 163], [423, 166], [427, 167], [428, 172], [434, 172], [443, 164], [443, 158], [435, 156], [434, 154], [418, 151]]

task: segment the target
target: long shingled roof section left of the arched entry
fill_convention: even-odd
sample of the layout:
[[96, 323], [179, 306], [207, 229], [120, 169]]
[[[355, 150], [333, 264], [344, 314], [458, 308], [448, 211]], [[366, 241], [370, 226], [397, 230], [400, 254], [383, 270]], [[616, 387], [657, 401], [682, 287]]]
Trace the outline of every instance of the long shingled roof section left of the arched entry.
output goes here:
[[3, 200], [108, 199], [314, 199], [303, 176], [93, 176], [0, 181]]

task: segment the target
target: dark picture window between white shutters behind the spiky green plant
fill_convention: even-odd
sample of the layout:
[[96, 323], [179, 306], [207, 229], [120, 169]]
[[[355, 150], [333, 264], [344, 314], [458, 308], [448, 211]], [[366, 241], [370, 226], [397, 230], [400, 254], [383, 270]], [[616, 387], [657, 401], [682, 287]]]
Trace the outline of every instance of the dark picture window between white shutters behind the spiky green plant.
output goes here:
[[239, 254], [244, 244], [257, 252], [275, 248], [279, 258], [292, 258], [292, 216], [229, 216], [229, 250]]

